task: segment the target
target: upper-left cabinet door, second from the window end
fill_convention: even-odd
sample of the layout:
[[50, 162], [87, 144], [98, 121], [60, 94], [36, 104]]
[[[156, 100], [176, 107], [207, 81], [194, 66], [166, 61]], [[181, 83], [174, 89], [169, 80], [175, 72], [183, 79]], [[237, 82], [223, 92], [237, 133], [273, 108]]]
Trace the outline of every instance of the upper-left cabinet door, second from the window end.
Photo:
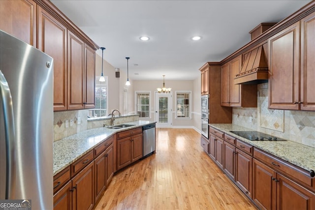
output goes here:
[[68, 31], [68, 110], [84, 108], [84, 43]]

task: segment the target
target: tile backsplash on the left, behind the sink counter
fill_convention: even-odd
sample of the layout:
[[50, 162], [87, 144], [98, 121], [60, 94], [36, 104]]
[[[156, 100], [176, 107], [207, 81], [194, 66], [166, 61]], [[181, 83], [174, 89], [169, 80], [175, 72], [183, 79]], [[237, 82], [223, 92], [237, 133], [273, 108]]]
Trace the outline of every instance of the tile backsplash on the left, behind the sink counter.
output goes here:
[[[54, 141], [74, 135], [81, 131], [102, 127], [103, 124], [109, 125], [110, 118], [106, 117], [102, 120], [88, 120], [89, 110], [75, 110], [54, 112]], [[78, 118], [81, 118], [81, 123], [78, 124]], [[73, 120], [73, 125], [70, 126], [70, 120]], [[68, 127], [65, 127], [65, 120], [68, 120]], [[139, 120], [139, 115], [128, 115], [116, 118], [114, 124], [121, 124]]]

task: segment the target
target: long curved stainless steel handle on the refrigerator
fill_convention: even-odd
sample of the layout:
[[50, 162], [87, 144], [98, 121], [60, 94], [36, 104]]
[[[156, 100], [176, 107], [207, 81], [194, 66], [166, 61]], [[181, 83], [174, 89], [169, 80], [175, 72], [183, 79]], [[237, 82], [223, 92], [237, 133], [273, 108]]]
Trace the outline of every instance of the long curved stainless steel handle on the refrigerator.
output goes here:
[[5, 149], [6, 149], [6, 186], [5, 199], [14, 198], [15, 189], [15, 128], [13, 104], [9, 85], [0, 70], [0, 97], [4, 116]]

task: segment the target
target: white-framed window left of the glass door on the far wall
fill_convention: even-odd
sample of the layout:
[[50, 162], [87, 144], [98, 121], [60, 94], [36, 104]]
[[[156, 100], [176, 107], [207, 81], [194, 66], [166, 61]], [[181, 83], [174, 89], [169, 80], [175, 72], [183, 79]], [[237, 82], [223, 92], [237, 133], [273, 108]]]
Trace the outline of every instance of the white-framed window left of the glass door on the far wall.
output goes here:
[[150, 118], [150, 92], [136, 92], [136, 110], [140, 118]]

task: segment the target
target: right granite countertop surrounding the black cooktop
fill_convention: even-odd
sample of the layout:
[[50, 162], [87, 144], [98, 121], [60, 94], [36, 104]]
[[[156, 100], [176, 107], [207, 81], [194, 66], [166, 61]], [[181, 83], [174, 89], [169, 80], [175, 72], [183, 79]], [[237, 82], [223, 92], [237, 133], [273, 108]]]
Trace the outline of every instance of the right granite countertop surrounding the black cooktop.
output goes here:
[[234, 136], [256, 148], [269, 152], [307, 171], [315, 171], [315, 148], [293, 141], [250, 141], [230, 131], [254, 131], [235, 124], [209, 124], [231, 136]]

